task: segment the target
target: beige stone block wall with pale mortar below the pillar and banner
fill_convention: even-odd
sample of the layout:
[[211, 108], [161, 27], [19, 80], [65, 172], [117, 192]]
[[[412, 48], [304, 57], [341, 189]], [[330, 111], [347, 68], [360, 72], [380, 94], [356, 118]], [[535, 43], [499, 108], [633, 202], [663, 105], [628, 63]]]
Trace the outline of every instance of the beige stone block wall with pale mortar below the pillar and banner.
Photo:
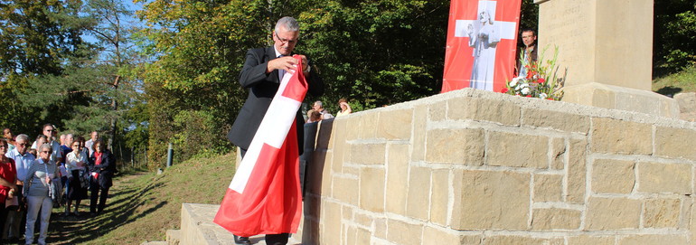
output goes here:
[[322, 122], [303, 244], [690, 244], [696, 124], [457, 90]]

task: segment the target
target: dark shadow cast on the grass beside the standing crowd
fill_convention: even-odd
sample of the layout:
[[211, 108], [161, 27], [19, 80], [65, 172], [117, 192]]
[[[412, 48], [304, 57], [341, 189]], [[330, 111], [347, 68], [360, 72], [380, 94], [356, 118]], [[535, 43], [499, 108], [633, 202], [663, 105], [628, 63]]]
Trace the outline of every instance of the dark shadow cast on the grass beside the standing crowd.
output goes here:
[[80, 216], [59, 216], [57, 214], [64, 212], [64, 207], [53, 209], [49, 238], [46, 241], [51, 244], [85, 243], [97, 240], [121, 225], [145, 217], [167, 204], [152, 202], [155, 200], [155, 197], [151, 196], [153, 189], [161, 185], [163, 184], [151, 183], [141, 190], [134, 187], [112, 187], [105, 210], [97, 216], [89, 215], [89, 199], [82, 201]]

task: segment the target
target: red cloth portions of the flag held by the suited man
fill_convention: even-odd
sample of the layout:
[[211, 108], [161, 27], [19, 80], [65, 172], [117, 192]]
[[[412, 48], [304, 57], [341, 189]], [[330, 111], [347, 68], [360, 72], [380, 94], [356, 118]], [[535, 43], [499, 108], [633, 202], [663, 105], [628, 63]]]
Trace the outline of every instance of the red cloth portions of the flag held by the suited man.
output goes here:
[[[299, 60], [299, 57], [296, 59]], [[298, 67], [302, 67], [301, 64]], [[274, 100], [281, 96], [302, 101], [306, 88], [303, 73], [296, 71], [287, 87], [278, 91]], [[271, 103], [271, 107], [273, 106]], [[228, 188], [215, 215], [213, 221], [235, 235], [249, 237], [297, 231], [302, 214], [302, 193], [299, 185], [295, 114], [292, 114], [292, 118], [285, 119], [291, 126], [282, 146], [276, 148], [268, 144], [261, 145], [260, 154], [243, 192], [238, 193]], [[259, 127], [259, 131], [261, 130], [263, 129]], [[257, 137], [262, 138], [263, 134], [257, 132], [254, 140]], [[254, 147], [253, 142], [250, 147]], [[254, 157], [249, 152], [251, 151], [245, 157]]]

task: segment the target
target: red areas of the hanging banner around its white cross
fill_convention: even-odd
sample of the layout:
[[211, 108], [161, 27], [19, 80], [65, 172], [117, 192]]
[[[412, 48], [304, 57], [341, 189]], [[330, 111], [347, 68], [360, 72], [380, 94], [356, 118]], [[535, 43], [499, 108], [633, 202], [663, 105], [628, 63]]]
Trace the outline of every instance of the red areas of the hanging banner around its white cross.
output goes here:
[[[474, 65], [474, 57], [472, 56], [474, 48], [469, 47], [468, 37], [455, 36], [456, 20], [476, 20], [479, 2], [484, 1], [453, 0], [450, 4], [442, 93], [469, 87]], [[494, 14], [495, 22], [517, 23], [513, 39], [502, 39], [496, 46], [493, 90], [501, 91], [505, 87], [505, 81], [513, 79], [518, 38], [517, 27], [519, 27], [522, 0], [494, 2], [497, 2]]]

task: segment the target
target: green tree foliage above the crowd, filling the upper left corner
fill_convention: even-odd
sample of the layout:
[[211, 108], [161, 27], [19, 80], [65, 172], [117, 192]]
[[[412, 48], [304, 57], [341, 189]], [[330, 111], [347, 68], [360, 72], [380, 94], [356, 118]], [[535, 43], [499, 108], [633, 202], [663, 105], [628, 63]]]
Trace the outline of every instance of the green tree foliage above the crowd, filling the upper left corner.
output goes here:
[[137, 130], [128, 143], [142, 146], [147, 118], [126, 117], [144, 105], [129, 14], [111, 0], [0, 2], [0, 125], [31, 137], [44, 123], [80, 136], [98, 130], [119, 156], [123, 134]]

